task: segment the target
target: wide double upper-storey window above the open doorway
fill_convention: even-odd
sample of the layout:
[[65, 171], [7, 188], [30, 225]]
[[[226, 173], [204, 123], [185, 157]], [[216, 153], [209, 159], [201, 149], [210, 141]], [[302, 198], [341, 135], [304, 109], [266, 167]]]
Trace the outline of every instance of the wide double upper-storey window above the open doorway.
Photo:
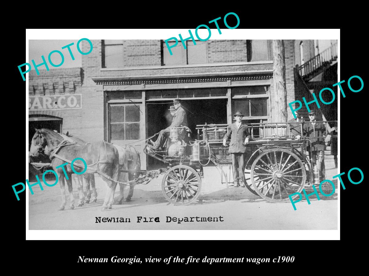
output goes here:
[[[169, 46], [175, 44], [174, 41], [168, 42]], [[207, 42], [196, 40], [194, 45], [192, 40], [186, 41], [186, 49], [182, 42], [178, 42], [177, 46], [170, 48], [170, 55], [166, 43], [163, 42], [163, 65], [180, 65], [180, 64], [205, 64], [207, 61]]]

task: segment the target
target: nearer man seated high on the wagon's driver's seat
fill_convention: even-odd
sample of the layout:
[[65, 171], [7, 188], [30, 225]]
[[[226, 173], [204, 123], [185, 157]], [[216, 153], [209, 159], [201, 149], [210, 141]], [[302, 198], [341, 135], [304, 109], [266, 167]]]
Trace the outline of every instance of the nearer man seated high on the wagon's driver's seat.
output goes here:
[[[165, 139], [170, 135], [170, 128], [172, 127], [187, 127], [187, 114], [182, 108], [179, 99], [173, 100], [173, 106], [175, 109], [175, 113], [172, 119], [172, 123], [169, 125], [169, 127], [165, 128], [164, 130], [161, 130], [158, 136], [158, 139], [156, 139], [153, 143], [152, 149], [154, 151], [158, 151], [158, 149], [164, 144]], [[172, 109], [172, 107], [170, 107]]]

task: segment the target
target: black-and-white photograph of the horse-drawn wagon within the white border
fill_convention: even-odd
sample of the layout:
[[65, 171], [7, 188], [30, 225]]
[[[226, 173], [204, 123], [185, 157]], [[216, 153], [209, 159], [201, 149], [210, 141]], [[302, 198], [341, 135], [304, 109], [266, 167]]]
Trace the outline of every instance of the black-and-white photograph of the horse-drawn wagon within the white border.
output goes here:
[[339, 36], [211, 31], [29, 37], [29, 230], [338, 229]]

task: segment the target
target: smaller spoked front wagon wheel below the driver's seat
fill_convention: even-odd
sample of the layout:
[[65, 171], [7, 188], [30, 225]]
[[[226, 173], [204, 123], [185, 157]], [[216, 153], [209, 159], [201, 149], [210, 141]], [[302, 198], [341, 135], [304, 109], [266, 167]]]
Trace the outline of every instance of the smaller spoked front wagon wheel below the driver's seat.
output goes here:
[[196, 200], [201, 191], [201, 178], [192, 167], [179, 165], [170, 168], [163, 177], [162, 192], [174, 205], [187, 205]]

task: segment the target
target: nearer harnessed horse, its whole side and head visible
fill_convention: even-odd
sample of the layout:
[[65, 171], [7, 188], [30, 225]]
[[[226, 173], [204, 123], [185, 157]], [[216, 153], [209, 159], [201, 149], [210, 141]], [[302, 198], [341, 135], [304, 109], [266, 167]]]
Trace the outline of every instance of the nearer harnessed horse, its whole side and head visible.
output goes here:
[[[38, 156], [44, 151], [45, 146], [48, 146], [51, 152], [51, 167], [58, 174], [60, 181], [60, 188], [62, 194], [62, 204], [59, 210], [64, 210], [66, 205], [65, 198], [65, 182], [64, 182], [64, 171], [66, 176], [66, 182], [68, 184], [68, 191], [70, 196], [70, 209], [74, 209], [74, 197], [72, 187], [72, 171], [71, 165], [63, 165], [66, 160], [73, 160], [75, 158], [82, 158], [86, 161], [89, 169], [97, 170], [106, 177], [100, 175], [100, 177], [108, 185], [108, 191], [105, 195], [102, 210], [111, 209], [114, 201], [114, 192], [117, 187], [117, 179], [119, 174], [119, 155], [117, 149], [105, 142], [94, 142], [87, 145], [77, 145], [71, 143], [65, 143], [65, 139], [58, 133], [48, 130], [46, 128], [36, 129], [34, 136], [32, 137], [30, 156]], [[60, 156], [59, 159], [56, 156]], [[101, 160], [102, 159], [102, 160]], [[79, 161], [74, 163], [74, 169], [76, 172], [81, 173], [85, 170], [84, 166]], [[58, 168], [57, 168], [58, 167]]]

